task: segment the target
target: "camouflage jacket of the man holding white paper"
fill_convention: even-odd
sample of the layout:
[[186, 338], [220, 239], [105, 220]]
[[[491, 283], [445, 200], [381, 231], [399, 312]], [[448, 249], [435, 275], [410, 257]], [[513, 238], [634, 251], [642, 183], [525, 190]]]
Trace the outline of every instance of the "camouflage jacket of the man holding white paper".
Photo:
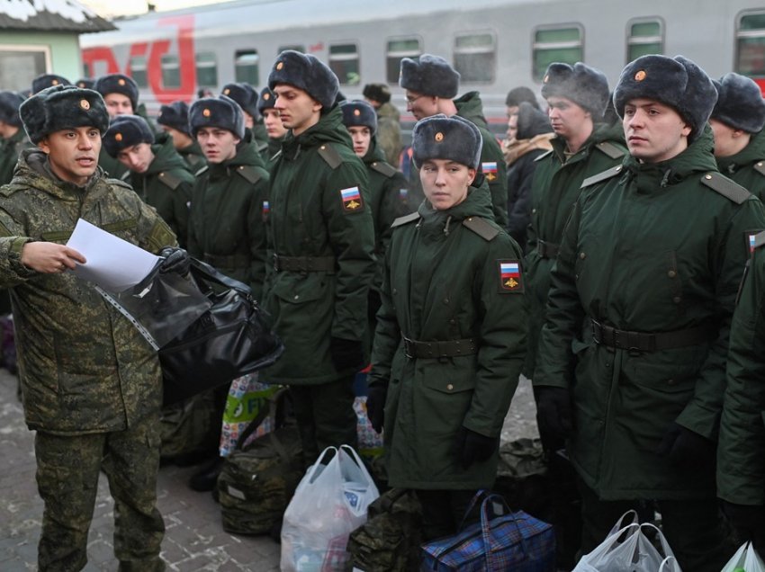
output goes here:
[[11, 289], [26, 422], [58, 434], [120, 431], [161, 405], [157, 354], [91, 284], [26, 268], [22, 248], [66, 243], [77, 219], [154, 253], [175, 237], [127, 184], [99, 170], [77, 187], [46, 167], [44, 153], [24, 150], [0, 189], [0, 286]]

